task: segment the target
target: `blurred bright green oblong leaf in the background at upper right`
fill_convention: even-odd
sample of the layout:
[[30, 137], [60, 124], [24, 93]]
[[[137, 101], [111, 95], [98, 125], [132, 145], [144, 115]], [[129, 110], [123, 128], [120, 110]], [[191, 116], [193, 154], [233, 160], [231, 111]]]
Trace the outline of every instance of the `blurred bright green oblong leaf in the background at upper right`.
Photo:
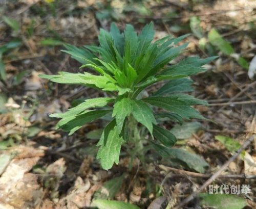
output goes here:
[[233, 47], [225, 39], [223, 39], [215, 29], [210, 30], [208, 33], [208, 39], [210, 43], [217, 46], [223, 54], [231, 55], [234, 53]]

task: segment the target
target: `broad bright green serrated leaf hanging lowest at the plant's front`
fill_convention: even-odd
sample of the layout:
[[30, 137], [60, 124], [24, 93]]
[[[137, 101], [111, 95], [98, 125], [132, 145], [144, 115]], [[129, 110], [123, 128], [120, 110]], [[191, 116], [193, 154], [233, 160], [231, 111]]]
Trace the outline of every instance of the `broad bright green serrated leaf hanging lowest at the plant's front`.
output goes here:
[[118, 165], [121, 144], [123, 142], [123, 138], [118, 134], [116, 121], [113, 120], [105, 127], [97, 144], [97, 146], [100, 146], [97, 159], [100, 159], [103, 169], [111, 169], [114, 162]]

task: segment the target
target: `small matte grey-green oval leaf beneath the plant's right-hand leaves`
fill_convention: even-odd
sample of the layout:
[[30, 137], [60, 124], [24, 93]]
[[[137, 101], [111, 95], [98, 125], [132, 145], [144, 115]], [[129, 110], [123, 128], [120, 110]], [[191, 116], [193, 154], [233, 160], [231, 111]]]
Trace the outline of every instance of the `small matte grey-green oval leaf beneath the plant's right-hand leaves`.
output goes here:
[[194, 133], [202, 127], [202, 124], [196, 121], [184, 122], [182, 125], [176, 125], [170, 129], [170, 133], [174, 134], [177, 139], [187, 139], [192, 137]]

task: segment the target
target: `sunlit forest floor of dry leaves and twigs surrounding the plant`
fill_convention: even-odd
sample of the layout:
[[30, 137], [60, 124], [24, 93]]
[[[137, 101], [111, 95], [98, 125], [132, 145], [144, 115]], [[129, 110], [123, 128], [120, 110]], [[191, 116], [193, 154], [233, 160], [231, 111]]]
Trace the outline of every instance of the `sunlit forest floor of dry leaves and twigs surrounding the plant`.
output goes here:
[[[151, 209], [168, 202], [167, 208], [173, 208], [197, 190], [199, 196], [183, 208], [256, 208], [256, 138], [250, 138], [256, 133], [256, 81], [248, 76], [250, 64], [256, 69], [255, 1], [0, 2], [1, 209], [89, 208], [95, 199]], [[170, 165], [156, 160], [154, 152], [146, 165], [134, 159], [129, 169], [131, 157], [121, 151], [119, 164], [106, 171], [96, 160], [106, 120], [84, 125], [71, 136], [55, 129], [58, 120], [50, 113], [65, 112], [82, 98], [105, 95], [48, 82], [38, 74], [78, 72], [80, 63], [61, 52], [62, 44], [97, 45], [99, 29], [109, 30], [113, 21], [121, 31], [129, 23], [138, 33], [153, 21], [156, 40], [191, 33], [182, 42], [190, 42], [189, 50], [170, 64], [191, 56], [219, 56], [205, 66], [206, 72], [191, 76], [191, 94], [209, 103], [195, 108], [216, 123], [195, 119], [182, 126], [162, 124], [178, 138], [175, 148], [200, 156], [207, 169], [201, 169], [198, 158], [182, 155], [182, 166]], [[156, 86], [147, 92], [155, 90]], [[210, 185], [240, 186], [240, 191], [249, 185], [250, 191], [209, 196], [209, 187], [202, 188], [206, 180], [249, 138], [245, 151]], [[166, 198], [159, 199], [162, 195]], [[156, 198], [160, 204], [153, 202]]]

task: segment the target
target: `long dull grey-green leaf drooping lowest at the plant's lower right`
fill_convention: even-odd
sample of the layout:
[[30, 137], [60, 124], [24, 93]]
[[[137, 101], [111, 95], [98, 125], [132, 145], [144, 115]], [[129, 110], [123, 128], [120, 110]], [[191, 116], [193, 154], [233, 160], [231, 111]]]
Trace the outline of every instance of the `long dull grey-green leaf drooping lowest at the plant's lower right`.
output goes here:
[[199, 173], [203, 173], [205, 168], [209, 167], [205, 160], [197, 154], [191, 154], [180, 148], [167, 148], [153, 141], [150, 141], [150, 144], [156, 149], [158, 154], [167, 160], [167, 163], [175, 162], [179, 166], [186, 166]]

